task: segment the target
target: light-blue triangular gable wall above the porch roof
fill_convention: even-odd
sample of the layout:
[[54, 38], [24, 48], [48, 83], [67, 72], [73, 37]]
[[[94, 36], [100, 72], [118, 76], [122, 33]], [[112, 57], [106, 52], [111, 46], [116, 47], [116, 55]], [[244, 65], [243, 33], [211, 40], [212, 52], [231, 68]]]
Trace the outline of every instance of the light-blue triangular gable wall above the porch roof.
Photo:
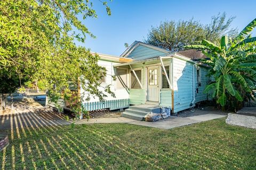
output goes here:
[[134, 60], [143, 60], [154, 56], [165, 56], [166, 54], [156, 49], [148, 48], [142, 45], [136, 47], [127, 58], [133, 58]]

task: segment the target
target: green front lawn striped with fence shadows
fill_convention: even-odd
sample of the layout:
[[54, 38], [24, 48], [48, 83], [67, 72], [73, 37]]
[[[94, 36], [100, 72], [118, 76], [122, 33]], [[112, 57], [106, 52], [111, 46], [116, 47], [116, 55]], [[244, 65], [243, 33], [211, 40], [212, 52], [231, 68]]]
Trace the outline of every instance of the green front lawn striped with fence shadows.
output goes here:
[[0, 169], [256, 169], [256, 130], [225, 118], [171, 130], [93, 124], [8, 133]]

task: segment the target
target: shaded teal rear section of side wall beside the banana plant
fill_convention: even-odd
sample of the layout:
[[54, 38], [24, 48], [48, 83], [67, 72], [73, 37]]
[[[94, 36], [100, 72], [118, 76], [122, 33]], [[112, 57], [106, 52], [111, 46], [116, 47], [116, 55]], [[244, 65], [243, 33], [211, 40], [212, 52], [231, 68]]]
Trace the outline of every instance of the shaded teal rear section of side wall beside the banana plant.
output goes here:
[[206, 67], [201, 67], [201, 83], [196, 83], [196, 88], [198, 88], [198, 93], [196, 93], [196, 103], [199, 101], [204, 101], [209, 99], [207, 94], [204, 94], [204, 89], [209, 82], [209, 77], [206, 77], [208, 69]]

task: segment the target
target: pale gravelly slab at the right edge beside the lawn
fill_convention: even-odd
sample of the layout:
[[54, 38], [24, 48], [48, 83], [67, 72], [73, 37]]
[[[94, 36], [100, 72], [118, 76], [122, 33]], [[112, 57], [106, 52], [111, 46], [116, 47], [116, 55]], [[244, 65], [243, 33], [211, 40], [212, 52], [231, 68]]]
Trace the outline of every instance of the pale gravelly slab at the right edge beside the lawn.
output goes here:
[[229, 113], [226, 123], [256, 129], [256, 117]]

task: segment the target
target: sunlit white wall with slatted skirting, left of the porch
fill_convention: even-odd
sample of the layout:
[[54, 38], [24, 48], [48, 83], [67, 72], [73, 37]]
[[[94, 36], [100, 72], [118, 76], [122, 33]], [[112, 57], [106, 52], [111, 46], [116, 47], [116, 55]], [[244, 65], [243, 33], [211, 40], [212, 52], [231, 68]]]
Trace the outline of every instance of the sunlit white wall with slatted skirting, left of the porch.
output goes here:
[[[98, 97], [92, 96], [90, 94], [87, 94], [83, 89], [81, 89], [81, 94], [85, 94], [83, 99], [87, 97], [87, 95], [90, 95], [90, 100], [84, 102], [84, 107], [87, 109], [87, 111], [93, 111], [95, 109], [102, 109], [102, 108], [110, 108], [110, 110], [118, 109], [118, 108], [124, 108], [129, 107], [129, 90], [127, 89], [117, 89], [116, 88], [116, 81], [113, 80], [111, 75], [115, 74], [113, 65], [119, 64], [117, 62], [110, 62], [110, 61], [103, 61], [99, 60], [99, 65], [106, 67], [107, 69], [107, 75], [106, 75], [106, 82], [102, 82], [101, 86], [107, 86], [110, 84], [110, 89], [113, 91], [116, 95], [116, 98], [111, 97], [109, 94], [105, 94], [108, 96], [105, 98], [105, 102], [100, 102]], [[99, 89], [101, 91], [104, 91], [104, 88], [100, 87]], [[94, 98], [95, 97], [95, 98]]]

